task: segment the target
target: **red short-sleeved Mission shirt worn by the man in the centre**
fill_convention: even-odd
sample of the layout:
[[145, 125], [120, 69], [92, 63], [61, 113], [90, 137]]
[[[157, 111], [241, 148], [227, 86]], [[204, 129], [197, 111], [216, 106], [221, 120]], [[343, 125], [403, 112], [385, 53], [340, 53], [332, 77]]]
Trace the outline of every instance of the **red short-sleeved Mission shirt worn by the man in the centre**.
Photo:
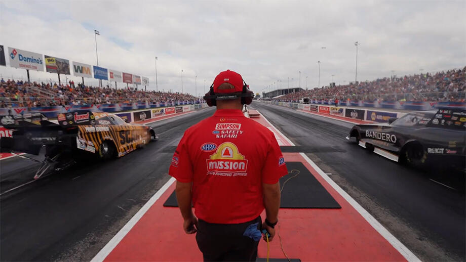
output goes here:
[[192, 182], [196, 216], [217, 224], [255, 219], [264, 210], [262, 183], [275, 184], [287, 173], [274, 134], [229, 109], [186, 130], [169, 171]]

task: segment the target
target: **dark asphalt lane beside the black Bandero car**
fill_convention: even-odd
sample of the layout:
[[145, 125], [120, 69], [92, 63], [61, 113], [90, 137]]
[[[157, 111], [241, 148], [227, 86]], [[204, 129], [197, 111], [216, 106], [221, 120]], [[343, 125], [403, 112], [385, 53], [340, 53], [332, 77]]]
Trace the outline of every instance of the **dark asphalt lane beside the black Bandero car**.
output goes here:
[[[351, 123], [254, 102], [257, 109], [421, 260], [465, 259], [464, 193], [348, 142]], [[318, 149], [314, 152], [312, 149]]]

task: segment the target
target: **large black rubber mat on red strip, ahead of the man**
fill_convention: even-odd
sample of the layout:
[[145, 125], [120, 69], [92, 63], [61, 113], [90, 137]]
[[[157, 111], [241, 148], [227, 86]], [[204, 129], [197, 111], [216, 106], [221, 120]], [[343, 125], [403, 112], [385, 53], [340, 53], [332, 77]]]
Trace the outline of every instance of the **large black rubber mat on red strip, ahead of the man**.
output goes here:
[[[301, 162], [287, 162], [288, 174], [280, 179], [281, 208], [341, 208]], [[175, 192], [164, 206], [178, 206]]]

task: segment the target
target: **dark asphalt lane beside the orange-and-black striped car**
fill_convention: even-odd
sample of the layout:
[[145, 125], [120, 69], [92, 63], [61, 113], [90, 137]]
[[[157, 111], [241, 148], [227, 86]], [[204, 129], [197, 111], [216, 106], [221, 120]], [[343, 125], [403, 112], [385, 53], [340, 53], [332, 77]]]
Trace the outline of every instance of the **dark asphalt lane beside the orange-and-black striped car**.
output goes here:
[[[81, 163], [2, 195], [0, 260], [90, 260], [168, 181], [173, 152], [165, 149], [213, 112], [208, 108], [148, 124], [160, 140], [143, 149]], [[2, 191], [30, 181], [36, 167], [18, 157], [1, 161]]]

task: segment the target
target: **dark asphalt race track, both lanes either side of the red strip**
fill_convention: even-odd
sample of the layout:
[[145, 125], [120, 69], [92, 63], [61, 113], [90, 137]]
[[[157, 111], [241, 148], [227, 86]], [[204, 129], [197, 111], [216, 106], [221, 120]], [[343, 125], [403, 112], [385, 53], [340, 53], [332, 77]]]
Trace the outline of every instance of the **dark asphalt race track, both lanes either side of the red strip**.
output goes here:
[[[351, 123], [258, 102], [250, 108], [301, 146], [421, 260], [465, 259], [464, 193], [349, 143], [345, 136]], [[152, 123], [161, 137], [156, 143], [1, 195], [0, 259], [90, 260], [169, 179], [184, 130], [213, 112], [203, 109]], [[34, 168], [17, 157], [0, 161], [2, 192], [30, 181]]]

